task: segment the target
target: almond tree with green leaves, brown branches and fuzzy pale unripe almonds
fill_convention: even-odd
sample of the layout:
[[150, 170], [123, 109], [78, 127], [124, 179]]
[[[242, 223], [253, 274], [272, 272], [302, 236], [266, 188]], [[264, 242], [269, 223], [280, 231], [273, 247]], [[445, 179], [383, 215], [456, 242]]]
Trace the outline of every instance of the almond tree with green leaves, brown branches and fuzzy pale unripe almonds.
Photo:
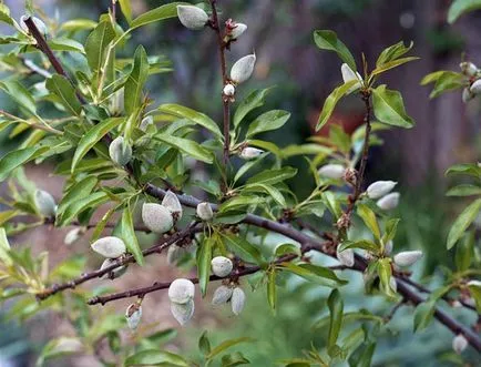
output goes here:
[[[117, 22], [121, 17], [117, 6], [126, 29]], [[465, 1], [454, 1], [450, 20], [472, 9]], [[39, 364], [58, 355], [92, 353], [106, 338], [116, 359], [103, 360], [99, 356], [104, 365], [190, 366], [194, 363], [183, 356], [142, 343], [120, 346], [119, 329], [137, 330], [142, 318], [154, 312], [142, 309], [143, 299], [163, 289], [168, 289], [173, 317], [181, 325], [188, 324], [195, 313], [195, 293], [205, 297], [208, 287], [214, 290], [214, 304], [228, 303], [238, 315], [248, 302], [244, 278], [253, 274], [260, 274], [255, 288], [267, 289], [267, 304], [273, 310], [283, 307], [277, 305], [276, 296], [276, 279], [282, 274], [332, 289], [327, 299], [326, 344], [316, 346], [304, 358], [283, 361], [285, 365], [327, 366], [350, 356], [357, 356], [356, 366], [370, 365], [376, 348], [375, 332], [359, 326], [354, 339], [344, 333], [341, 288], [348, 283], [345, 272], [364, 278], [367, 297], [382, 294], [393, 305], [385, 317], [364, 310], [350, 314], [355, 319], [368, 319], [385, 327], [397, 309], [415, 306], [415, 330], [429, 327], [436, 319], [446, 326], [446, 333], [452, 333], [454, 351], [462, 353], [468, 346], [481, 350], [479, 324], [463, 325], [444, 307], [446, 303], [464, 307], [474, 318], [481, 309], [474, 231], [467, 232], [481, 208], [480, 200], [461, 213], [449, 234], [448, 247], [457, 245], [457, 268], [440, 287], [429, 289], [413, 281], [409, 271], [409, 266], [420, 261], [422, 252], [392, 248], [397, 227], [402, 225], [402, 218], [392, 215], [401, 200], [393, 190], [402, 184], [386, 177], [373, 183], [365, 180], [369, 147], [381, 142], [377, 132], [415, 124], [401, 94], [381, 82], [390, 69], [417, 59], [407, 57], [412, 44], [390, 45], [379, 54], [376, 65], [368, 65], [364, 55], [356, 62], [335, 32], [315, 31], [317, 47], [334, 51], [340, 59], [339, 77], [342, 77], [324, 103], [317, 129], [327, 123], [337, 102], [348, 94], [364, 102], [365, 123], [351, 136], [332, 128], [329, 139], [317, 139], [317, 144], [282, 149], [259, 140], [258, 135], [282, 129], [290, 114], [283, 110], [258, 113], [269, 89], [237, 99], [248, 91], [256, 54], [228, 64], [226, 54], [248, 28], [224, 14], [221, 20], [216, 0], [197, 6], [167, 3], [136, 18], [132, 17], [127, 0], [113, 0], [109, 12], [98, 22], [72, 20], [60, 27], [44, 17], [34, 17], [32, 6], [27, 11], [16, 21], [7, 6], [0, 4], [0, 20], [12, 30], [11, 35], [2, 37], [2, 43], [13, 47], [8, 58], [3, 58], [8, 60], [6, 67], [11, 78], [3, 80], [0, 88], [20, 111], [19, 115], [0, 111], [0, 128], [12, 125], [13, 135], [23, 132], [25, 136], [18, 149], [0, 160], [0, 181], [7, 181], [9, 187], [9, 197], [2, 198], [8, 210], [0, 213], [0, 299], [14, 298], [12, 314], [20, 318], [44, 309], [59, 312], [78, 333], [76, 337], [51, 340]], [[193, 31], [209, 31], [217, 40], [223, 82], [215, 96], [223, 109], [219, 123], [188, 106], [158, 105], [151, 100], [145, 83], [151, 74], [165, 70], [142, 45], [127, 62], [119, 58], [136, 29], [175, 19]], [[90, 31], [83, 43], [76, 39], [81, 30]], [[75, 63], [70, 62], [71, 54], [76, 55]], [[470, 62], [462, 63], [461, 69], [460, 73], [434, 72], [424, 82], [436, 82], [433, 95], [464, 88], [462, 98], [468, 101], [481, 93], [481, 71]], [[32, 75], [42, 81], [28, 88]], [[41, 106], [55, 109], [55, 116], [44, 114]], [[250, 121], [248, 115], [253, 113], [258, 115]], [[199, 131], [207, 137], [201, 139]], [[288, 186], [288, 180], [298, 172], [297, 167], [286, 165], [286, 159], [294, 155], [305, 156], [313, 179], [307, 197], [297, 197]], [[187, 160], [202, 162], [212, 179], [193, 180]], [[29, 162], [49, 161], [60, 161], [53, 173], [65, 181], [58, 203], [50, 193], [28, 181], [22, 170]], [[245, 163], [239, 165], [242, 161]], [[464, 164], [449, 173], [480, 179], [480, 170], [477, 164]], [[339, 190], [346, 185], [348, 193]], [[208, 201], [190, 195], [194, 187], [204, 191]], [[473, 185], [457, 186], [450, 194], [479, 195], [479, 180]], [[101, 221], [92, 222], [92, 215], [104, 204], [110, 204], [109, 211]], [[136, 212], [141, 212], [139, 221]], [[356, 237], [351, 231], [354, 222], [366, 227], [370, 235]], [[32, 255], [29, 247], [10, 246], [9, 236], [45, 225], [73, 226], [65, 237], [68, 244], [93, 228], [89, 233], [88, 253], [104, 257], [102, 266], [89, 269], [82, 262], [65, 258], [51, 269], [48, 253]], [[323, 227], [327, 230], [319, 230]], [[137, 239], [141, 232], [157, 234], [157, 242], [147, 248], [141, 246]], [[266, 246], [270, 233], [284, 238], [274, 251]], [[82, 287], [95, 278], [108, 283], [134, 266], [143, 266], [147, 257], [164, 253], [172, 265], [181, 258], [191, 259], [197, 275], [139, 284], [136, 288], [112, 294], [91, 295]], [[335, 258], [339, 265], [315, 261], [315, 253]], [[99, 316], [95, 312], [122, 298], [132, 299], [125, 315]], [[139, 340], [155, 337], [135, 333], [140, 333]], [[226, 349], [247, 340], [240, 337], [212, 348], [203, 335], [199, 346], [207, 365], [222, 357], [223, 366], [232, 366], [248, 360], [238, 353], [226, 354]]]

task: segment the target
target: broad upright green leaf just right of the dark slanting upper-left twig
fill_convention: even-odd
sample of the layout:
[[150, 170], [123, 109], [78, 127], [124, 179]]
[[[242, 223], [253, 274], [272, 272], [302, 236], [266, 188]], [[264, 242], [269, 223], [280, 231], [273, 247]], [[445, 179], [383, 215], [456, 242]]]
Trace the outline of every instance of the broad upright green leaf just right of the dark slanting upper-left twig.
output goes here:
[[85, 41], [86, 61], [92, 71], [100, 71], [105, 63], [109, 43], [115, 38], [115, 30], [110, 21], [99, 23]]

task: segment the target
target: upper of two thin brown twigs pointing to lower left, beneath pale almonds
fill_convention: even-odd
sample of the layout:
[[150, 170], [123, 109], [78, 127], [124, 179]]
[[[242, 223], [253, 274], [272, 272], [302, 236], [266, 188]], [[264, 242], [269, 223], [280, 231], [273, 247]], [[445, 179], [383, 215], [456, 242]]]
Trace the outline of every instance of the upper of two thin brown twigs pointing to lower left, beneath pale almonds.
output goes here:
[[[156, 245], [154, 245], [147, 249], [144, 249], [142, 252], [142, 254], [144, 256], [149, 256], [152, 254], [160, 254], [163, 249], [167, 248], [170, 245], [176, 243], [177, 241], [187, 238], [188, 236], [193, 236], [195, 233], [198, 233], [202, 230], [203, 230], [203, 226], [199, 225], [197, 222], [194, 222], [190, 226], [187, 226], [184, 231], [177, 232], [167, 238], [163, 238]], [[113, 263], [112, 265], [110, 265], [103, 269], [98, 269], [94, 272], [89, 272], [89, 273], [82, 274], [80, 277], [72, 279], [70, 282], [66, 282], [66, 283], [53, 284], [50, 287], [45, 288], [43, 292], [38, 293], [35, 295], [35, 297], [39, 300], [45, 299], [45, 298], [48, 298], [48, 297], [50, 297], [50, 296], [52, 296], [59, 292], [62, 292], [65, 289], [73, 289], [73, 288], [75, 288], [75, 286], [78, 286], [82, 283], [85, 283], [85, 282], [94, 279], [94, 278], [102, 277], [105, 274], [113, 272], [115, 268], [117, 268], [120, 266], [126, 265], [129, 263], [134, 263], [134, 262], [135, 262], [135, 258], [132, 255], [123, 256], [123, 257], [116, 259], [115, 263]]]

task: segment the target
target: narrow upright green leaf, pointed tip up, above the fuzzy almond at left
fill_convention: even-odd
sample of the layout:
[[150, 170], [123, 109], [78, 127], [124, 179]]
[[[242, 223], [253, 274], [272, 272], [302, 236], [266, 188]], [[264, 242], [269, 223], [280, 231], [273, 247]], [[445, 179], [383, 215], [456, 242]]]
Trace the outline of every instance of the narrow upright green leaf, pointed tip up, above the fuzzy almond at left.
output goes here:
[[134, 67], [124, 85], [125, 112], [131, 114], [142, 103], [142, 89], [149, 77], [149, 60], [143, 45], [139, 45], [134, 54]]

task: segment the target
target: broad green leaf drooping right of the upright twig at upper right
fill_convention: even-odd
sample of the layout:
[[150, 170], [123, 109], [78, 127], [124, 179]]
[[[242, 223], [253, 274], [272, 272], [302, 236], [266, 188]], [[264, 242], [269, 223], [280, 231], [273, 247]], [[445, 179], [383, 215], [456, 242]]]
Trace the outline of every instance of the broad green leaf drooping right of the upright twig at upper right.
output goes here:
[[410, 129], [415, 122], [405, 110], [401, 93], [379, 85], [372, 89], [372, 106], [376, 118], [388, 125]]

